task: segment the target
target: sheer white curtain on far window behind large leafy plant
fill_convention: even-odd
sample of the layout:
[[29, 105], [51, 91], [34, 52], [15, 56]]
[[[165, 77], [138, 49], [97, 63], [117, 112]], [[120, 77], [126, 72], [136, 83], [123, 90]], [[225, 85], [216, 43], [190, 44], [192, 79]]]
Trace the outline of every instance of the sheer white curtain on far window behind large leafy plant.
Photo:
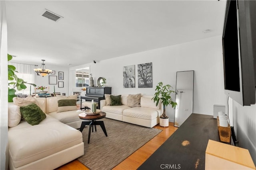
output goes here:
[[[35, 82], [35, 71], [34, 71], [34, 65], [32, 64], [21, 64], [21, 63], [12, 63], [9, 62], [8, 64], [13, 65], [16, 67], [16, 71], [18, 73], [15, 73], [18, 78], [22, 78], [25, 82], [28, 83], [34, 83]], [[34, 83], [35, 84], [35, 83]], [[16, 94], [28, 94], [30, 95], [31, 89], [34, 89], [34, 86], [30, 88], [29, 84], [25, 84], [27, 86], [26, 89], [17, 91]], [[16, 89], [17, 90], [17, 89]], [[34, 91], [32, 90], [31, 93]]]

